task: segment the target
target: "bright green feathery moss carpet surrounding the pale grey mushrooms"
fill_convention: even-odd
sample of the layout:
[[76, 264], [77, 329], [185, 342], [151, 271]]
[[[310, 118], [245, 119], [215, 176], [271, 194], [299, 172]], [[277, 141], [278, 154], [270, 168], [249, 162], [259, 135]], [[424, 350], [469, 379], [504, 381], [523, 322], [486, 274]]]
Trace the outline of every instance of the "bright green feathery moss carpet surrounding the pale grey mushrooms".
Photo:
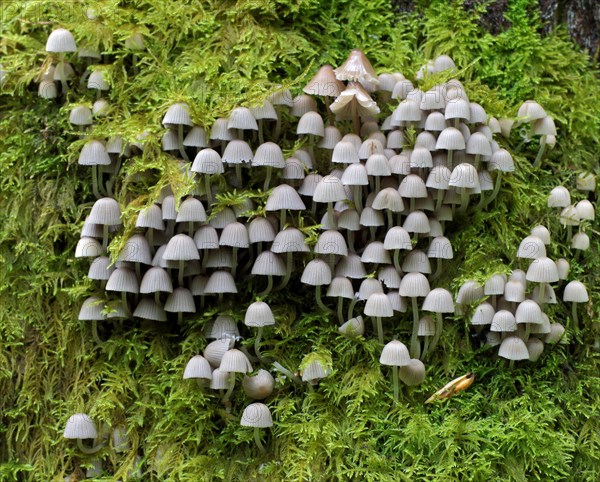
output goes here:
[[[95, 480], [137, 480], [127, 474], [138, 455], [141, 480], [599, 479], [598, 226], [588, 231], [590, 250], [572, 259], [546, 197], [562, 184], [574, 200], [583, 198], [575, 191], [577, 174], [600, 174], [600, 81], [562, 29], [539, 34], [535, 1], [509, 2], [510, 26], [496, 36], [478, 24], [484, 7], [467, 11], [441, 0], [417, 2], [411, 14], [395, 13], [386, 0], [41, 0], [0, 8], [7, 72], [0, 91], [1, 480], [62, 481], [89, 466], [62, 437], [76, 412], [129, 432], [125, 452], [100, 452], [105, 471]], [[90, 8], [92, 20], [84, 13]], [[493, 209], [453, 225], [456, 257], [438, 286], [456, 293], [465, 279], [485, 281], [519, 267], [519, 241], [545, 224], [555, 240], [550, 256], [571, 260], [569, 279], [590, 292], [581, 333], [510, 371], [493, 350], [467, 343], [468, 320], [457, 316], [426, 364], [426, 381], [405, 387], [394, 404], [374, 340], [340, 337], [333, 320], [315, 311], [312, 290], [275, 293], [268, 301], [278, 324], [265, 335], [266, 353], [296, 368], [305, 355], [322, 353], [333, 373], [312, 392], [277, 383], [266, 401], [275, 425], [265, 432], [268, 451], [261, 455], [251, 429], [239, 424], [248, 403], [241, 390], [228, 414], [209, 390], [182, 380], [189, 358], [206, 345], [202, 326], [216, 309], [179, 324], [108, 324], [102, 347], [77, 319], [94, 286], [74, 248], [94, 197], [90, 170], [77, 165], [83, 140], [68, 113], [77, 103], [91, 105], [95, 94], [74, 81], [66, 98], [38, 97], [45, 41], [58, 27], [69, 29], [79, 47], [103, 53], [112, 109], [89, 135], [134, 140], [150, 132], [150, 147], [127, 161], [117, 183], [126, 230], [162, 187], [171, 184], [178, 197], [189, 192], [175, 160], [160, 150], [162, 116], [177, 101], [190, 105], [197, 125], [210, 127], [236, 106], [257, 105], [275, 84], [299, 93], [320, 65], [340, 65], [352, 48], [362, 49], [378, 72], [408, 78], [427, 59], [449, 54], [471, 100], [496, 117], [515, 116], [524, 100], [535, 99], [556, 120], [556, 147], [533, 169], [537, 141], [519, 150], [518, 136], [502, 141], [517, 170], [504, 177]], [[134, 59], [124, 41], [136, 32], [147, 48]], [[74, 54], [68, 60], [81, 75], [83, 61]], [[242, 288], [237, 306], [224, 310], [242, 320], [253, 296]], [[568, 324], [569, 310], [560, 302], [549, 315]], [[253, 334], [246, 335], [252, 343]], [[468, 391], [445, 404], [423, 404], [468, 371], [477, 375]]]

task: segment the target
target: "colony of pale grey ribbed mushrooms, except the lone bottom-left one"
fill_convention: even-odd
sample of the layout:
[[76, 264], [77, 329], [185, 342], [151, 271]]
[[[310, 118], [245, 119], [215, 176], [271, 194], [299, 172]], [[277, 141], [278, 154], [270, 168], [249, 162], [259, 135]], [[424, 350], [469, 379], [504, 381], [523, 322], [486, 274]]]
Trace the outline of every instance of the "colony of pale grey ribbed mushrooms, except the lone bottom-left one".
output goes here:
[[[42, 78], [43, 97], [58, 96], [56, 81], [66, 93], [72, 79], [66, 72], [74, 75], [64, 56], [76, 47], [65, 32], [51, 35], [63, 36], [58, 44], [66, 48], [47, 47], [60, 61]], [[454, 62], [442, 55], [417, 78], [454, 70]], [[109, 89], [104, 70], [90, 66], [86, 72], [88, 88]], [[292, 275], [300, 269], [300, 282], [314, 287], [319, 309], [337, 317], [342, 335], [362, 336], [363, 315], [371, 319], [383, 346], [380, 362], [392, 367], [394, 400], [399, 398], [399, 379], [409, 386], [424, 380], [423, 360], [438, 346], [443, 316], [457, 309], [472, 317], [471, 330], [487, 333], [487, 343], [499, 345], [498, 354], [511, 364], [537, 359], [544, 342], [562, 337], [564, 327], [550, 323], [543, 310], [556, 301], [550, 283], [566, 279], [568, 262], [545, 257], [550, 242], [545, 228], [534, 228], [536, 233], [519, 248], [517, 257], [533, 260], [527, 273], [496, 274], [484, 287], [467, 282], [456, 301], [445, 288], [431, 289], [440, 278], [448, 282], [441, 276], [442, 260], [452, 259], [453, 249], [444, 236], [445, 225], [457, 214], [464, 219], [469, 209], [492, 203], [503, 173], [515, 169], [510, 152], [497, 142], [498, 135], [509, 137], [515, 121], [488, 117], [481, 105], [469, 101], [458, 80], [422, 91], [400, 73], [376, 75], [364, 54], [354, 50], [337, 69], [322, 67], [297, 97], [276, 90], [262, 105], [238, 107], [228, 118], [217, 119], [210, 130], [193, 124], [187, 104], [173, 104], [163, 118], [162, 148], [183, 176], [197, 181], [194, 192], [180, 199], [169, 187], [163, 189], [139, 212], [135, 234], [116, 260], [108, 257], [107, 248], [122, 230], [122, 211], [110, 195], [121, 166], [143, 154], [149, 134], [141, 132], [131, 142], [121, 136], [95, 138], [94, 118], [101, 122], [108, 108], [99, 99], [92, 110], [79, 105], [70, 114], [70, 122], [87, 139], [78, 163], [91, 166], [98, 198], [75, 255], [93, 259], [88, 277], [98, 283], [99, 292], [83, 303], [79, 319], [91, 321], [93, 336], [102, 343], [99, 321], [162, 322], [169, 313], [181, 321], [208, 305], [225, 311], [240, 283], [260, 286], [261, 301], [248, 307], [244, 320], [248, 330], [256, 329], [254, 354], [242, 345], [235, 348], [240, 339], [237, 323], [222, 314], [204, 330], [214, 341], [184, 372], [184, 378], [221, 391], [228, 409], [237, 373], [244, 374], [242, 387], [249, 398], [264, 400], [272, 393], [271, 373], [261, 368], [250, 375], [251, 363], [272, 366], [301, 383], [291, 370], [264, 355], [261, 343], [265, 327], [276, 323], [262, 300], [297, 283]], [[380, 115], [382, 111], [390, 115]], [[527, 126], [524, 142], [541, 136], [539, 164], [546, 147], [556, 142], [552, 118], [539, 104], [526, 101], [516, 122]], [[284, 151], [292, 145], [296, 148], [286, 158]], [[237, 189], [240, 199], [230, 206], [215, 203], [218, 180]], [[250, 189], [268, 193], [264, 206], [242, 195]], [[564, 206], [560, 219], [569, 233], [575, 219], [590, 219], [591, 203], [586, 202]], [[314, 246], [307, 243], [307, 220], [321, 231]], [[537, 283], [531, 299], [526, 299], [528, 282]], [[564, 301], [587, 300], [577, 283], [565, 287]], [[333, 300], [329, 305], [324, 287], [325, 298]], [[409, 305], [412, 323], [404, 327], [402, 314]], [[421, 316], [422, 311], [430, 315]], [[576, 329], [576, 308], [573, 313]], [[389, 320], [385, 326], [384, 319]], [[399, 331], [411, 333], [409, 348], [396, 339], [384, 345]], [[311, 387], [330, 372], [330, 366], [316, 360], [304, 368], [302, 381]], [[264, 450], [258, 429], [272, 424], [268, 407], [249, 405], [242, 424], [255, 427], [256, 443]]]

